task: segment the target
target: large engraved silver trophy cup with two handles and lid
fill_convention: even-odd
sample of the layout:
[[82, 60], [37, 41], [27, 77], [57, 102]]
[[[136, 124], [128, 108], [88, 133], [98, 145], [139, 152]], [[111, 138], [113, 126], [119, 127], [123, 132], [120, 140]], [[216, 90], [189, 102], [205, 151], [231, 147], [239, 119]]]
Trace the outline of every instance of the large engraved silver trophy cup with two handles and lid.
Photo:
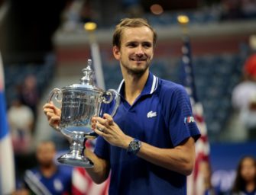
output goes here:
[[[112, 117], [120, 102], [120, 96], [114, 89], [103, 91], [93, 82], [92, 60], [88, 59], [80, 84], [73, 84], [62, 89], [54, 88], [48, 102], [53, 97], [61, 103], [60, 126], [57, 129], [70, 140], [70, 152], [61, 155], [57, 161], [66, 165], [92, 168], [93, 162], [83, 154], [87, 139], [95, 139], [98, 135], [91, 128], [91, 119], [102, 116], [103, 107], [112, 107]], [[111, 110], [111, 109], [110, 109]]]

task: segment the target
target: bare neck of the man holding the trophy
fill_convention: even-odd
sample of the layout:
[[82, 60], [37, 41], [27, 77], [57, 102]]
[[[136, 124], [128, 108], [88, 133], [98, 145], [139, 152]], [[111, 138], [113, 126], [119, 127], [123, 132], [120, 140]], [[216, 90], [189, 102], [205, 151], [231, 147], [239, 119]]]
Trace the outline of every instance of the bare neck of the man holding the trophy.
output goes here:
[[144, 85], [147, 82], [149, 71], [147, 69], [143, 75], [125, 75], [125, 100], [133, 104], [136, 98], [141, 94]]

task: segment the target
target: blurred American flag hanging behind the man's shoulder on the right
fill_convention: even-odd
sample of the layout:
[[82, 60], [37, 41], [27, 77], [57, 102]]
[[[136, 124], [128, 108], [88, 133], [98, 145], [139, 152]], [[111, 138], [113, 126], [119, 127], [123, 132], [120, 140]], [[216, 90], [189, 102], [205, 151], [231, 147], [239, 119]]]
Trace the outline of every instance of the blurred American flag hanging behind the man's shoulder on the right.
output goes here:
[[188, 177], [187, 194], [201, 195], [206, 194], [205, 181], [209, 171], [209, 142], [207, 137], [206, 123], [203, 118], [203, 105], [199, 102], [196, 94], [196, 85], [193, 73], [193, 62], [190, 46], [190, 37], [183, 37], [182, 47], [182, 83], [190, 95], [190, 101], [193, 108], [193, 117], [199, 127], [201, 137], [196, 142], [196, 163], [193, 173]]

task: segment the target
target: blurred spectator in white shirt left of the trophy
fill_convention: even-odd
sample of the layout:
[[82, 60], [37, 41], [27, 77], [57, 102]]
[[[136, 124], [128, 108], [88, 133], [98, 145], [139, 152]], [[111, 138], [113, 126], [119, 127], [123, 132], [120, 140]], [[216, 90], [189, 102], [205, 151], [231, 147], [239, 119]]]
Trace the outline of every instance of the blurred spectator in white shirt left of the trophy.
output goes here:
[[31, 131], [34, 126], [31, 108], [16, 98], [8, 109], [8, 124], [15, 155], [28, 153], [31, 149]]

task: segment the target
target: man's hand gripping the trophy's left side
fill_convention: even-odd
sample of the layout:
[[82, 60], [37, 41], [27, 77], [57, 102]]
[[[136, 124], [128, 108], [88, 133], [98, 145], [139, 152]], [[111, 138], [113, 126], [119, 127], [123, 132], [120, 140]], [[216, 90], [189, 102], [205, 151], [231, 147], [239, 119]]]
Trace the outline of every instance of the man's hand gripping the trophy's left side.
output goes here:
[[54, 129], [57, 129], [57, 126], [60, 125], [61, 110], [55, 107], [53, 105], [53, 102], [44, 104], [43, 110], [44, 110], [44, 114], [47, 116], [49, 125], [52, 126]]

